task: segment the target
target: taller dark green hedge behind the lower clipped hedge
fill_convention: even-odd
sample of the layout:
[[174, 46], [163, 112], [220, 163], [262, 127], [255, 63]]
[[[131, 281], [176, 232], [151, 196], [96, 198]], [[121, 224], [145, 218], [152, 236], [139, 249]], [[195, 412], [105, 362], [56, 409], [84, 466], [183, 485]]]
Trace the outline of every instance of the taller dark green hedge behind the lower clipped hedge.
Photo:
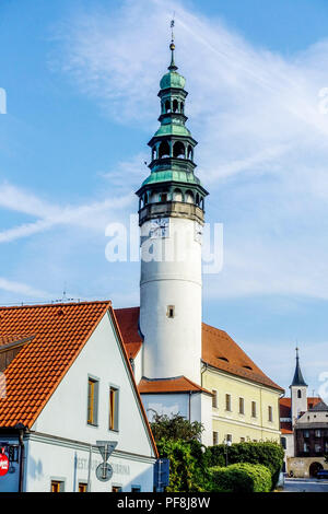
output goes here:
[[[226, 447], [224, 444], [208, 447], [209, 466], [224, 466]], [[227, 448], [229, 464], [261, 464], [270, 469], [273, 489], [278, 482], [283, 463], [283, 447], [279, 443], [236, 443]]]

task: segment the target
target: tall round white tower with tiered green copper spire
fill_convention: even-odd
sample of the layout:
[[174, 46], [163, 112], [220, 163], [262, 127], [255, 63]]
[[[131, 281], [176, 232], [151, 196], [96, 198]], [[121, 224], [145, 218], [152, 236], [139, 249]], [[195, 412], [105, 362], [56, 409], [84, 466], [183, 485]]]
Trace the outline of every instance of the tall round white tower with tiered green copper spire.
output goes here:
[[139, 328], [143, 376], [200, 383], [201, 245], [204, 197], [195, 175], [197, 141], [186, 127], [186, 80], [175, 65], [160, 82], [159, 130], [149, 141], [150, 175], [137, 191], [141, 233]]

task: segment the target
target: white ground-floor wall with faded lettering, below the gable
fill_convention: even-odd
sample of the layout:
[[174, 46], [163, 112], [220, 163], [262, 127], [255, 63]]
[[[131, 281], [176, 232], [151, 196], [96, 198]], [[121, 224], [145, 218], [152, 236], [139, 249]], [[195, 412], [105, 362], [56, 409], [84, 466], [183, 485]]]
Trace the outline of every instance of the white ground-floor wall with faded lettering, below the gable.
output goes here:
[[[48, 492], [51, 480], [65, 481], [66, 492], [77, 492], [79, 482], [87, 483], [89, 448], [56, 441], [30, 441], [25, 488], [27, 492]], [[142, 458], [110, 456], [108, 463], [114, 468], [113, 478], [101, 482], [95, 476], [96, 466], [102, 463], [97, 451], [91, 457], [91, 492], [110, 492], [113, 486], [119, 486], [124, 492], [131, 491], [131, 486], [141, 487], [142, 491], [153, 490], [153, 467]]]

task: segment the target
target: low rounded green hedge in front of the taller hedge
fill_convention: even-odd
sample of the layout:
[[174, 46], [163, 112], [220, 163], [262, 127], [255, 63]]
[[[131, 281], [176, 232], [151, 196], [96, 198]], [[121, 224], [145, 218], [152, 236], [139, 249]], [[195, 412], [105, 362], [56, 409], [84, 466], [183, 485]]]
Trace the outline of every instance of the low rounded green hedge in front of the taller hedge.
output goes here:
[[212, 490], [216, 492], [270, 492], [271, 472], [261, 464], [239, 463], [210, 468]]

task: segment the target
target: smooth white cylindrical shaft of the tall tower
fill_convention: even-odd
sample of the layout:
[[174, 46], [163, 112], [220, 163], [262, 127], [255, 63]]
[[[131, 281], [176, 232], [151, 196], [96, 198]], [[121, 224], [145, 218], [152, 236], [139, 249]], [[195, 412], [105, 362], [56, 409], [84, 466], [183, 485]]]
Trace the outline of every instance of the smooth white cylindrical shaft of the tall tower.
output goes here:
[[[149, 222], [141, 234], [149, 233]], [[143, 241], [143, 240], [142, 240]], [[149, 257], [153, 245], [154, 260]], [[140, 328], [144, 336], [143, 374], [149, 378], [185, 375], [200, 383], [201, 244], [195, 222], [169, 219], [169, 236], [141, 246]], [[174, 318], [167, 306], [174, 305]]]

